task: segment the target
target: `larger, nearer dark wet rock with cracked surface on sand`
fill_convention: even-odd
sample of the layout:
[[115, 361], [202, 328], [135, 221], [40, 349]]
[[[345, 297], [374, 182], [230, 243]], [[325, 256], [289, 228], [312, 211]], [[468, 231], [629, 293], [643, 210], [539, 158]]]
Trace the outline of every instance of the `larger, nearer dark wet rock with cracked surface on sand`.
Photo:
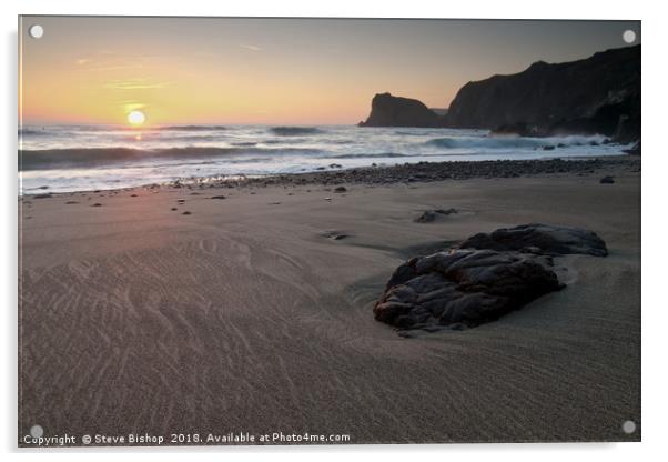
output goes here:
[[489, 322], [563, 287], [542, 260], [494, 250], [454, 250], [414, 259], [397, 269], [374, 315], [402, 329]]

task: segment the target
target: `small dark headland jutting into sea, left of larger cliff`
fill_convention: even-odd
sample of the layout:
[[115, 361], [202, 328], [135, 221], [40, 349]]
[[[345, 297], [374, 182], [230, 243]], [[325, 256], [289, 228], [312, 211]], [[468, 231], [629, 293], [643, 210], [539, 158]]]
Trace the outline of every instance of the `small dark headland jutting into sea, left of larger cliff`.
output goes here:
[[421, 101], [378, 93], [361, 127], [442, 127], [443, 119]]

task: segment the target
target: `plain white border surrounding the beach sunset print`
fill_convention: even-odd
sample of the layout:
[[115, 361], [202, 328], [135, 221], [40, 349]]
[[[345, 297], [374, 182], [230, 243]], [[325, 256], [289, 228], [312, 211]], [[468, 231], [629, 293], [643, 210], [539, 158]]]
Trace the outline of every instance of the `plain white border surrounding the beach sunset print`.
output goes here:
[[[32, 459], [41, 453], [18, 451], [17, 442], [17, 16], [22, 14], [144, 14], [144, 16], [294, 16], [294, 17], [368, 17], [368, 18], [523, 18], [523, 19], [629, 19], [642, 20], [642, 443], [616, 444], [478, 444], [478, 445], [403, 445], [403, 446], [290, 446], [290, 448], [199, 448], [184, 453], [174, 449], [104, 451], [52, 450], [50, 456], [61, 460], [85, 459], [118, 460], [119, 456], [141, 460], [159, 456], [163, 460], [191, 459], [256, 459], [271, 456], [279, 461], [294, 458], [338, 460], [341, 458], [368, 458], [378, 453], [383, 460], [406, 458], [438, 458], [467, 461], [559, 461], [564, 459], [600, 459], [625, 461], [658, 459], [666, 425], [666, 303], [665, 234], [666, 200], [668, 198], [668, 148], [666, 147], [666, 30], [668, 18], [658, 1], [605, 1], [560, 0], [540, 7], [537, 1], [256, 1], [220, 2], [188, 0], [183, 2], [139, 2], [136, 0], [110, 0], [105, 3], [85, 0], [22, 0], [0, 2], [2, 14], [3, 60], [1, 79], [4, 98], [1, 111], [3, 181], [2, 192], [2, 273], [0, 293], [2, 304], [2, 380], [0, 396], [3, 400], [0, 419], [1, 448], [8, 459]], [[179, 452], [176, 452], [179, 451]], [[185, 450], [184, 450], [185, 451]]]

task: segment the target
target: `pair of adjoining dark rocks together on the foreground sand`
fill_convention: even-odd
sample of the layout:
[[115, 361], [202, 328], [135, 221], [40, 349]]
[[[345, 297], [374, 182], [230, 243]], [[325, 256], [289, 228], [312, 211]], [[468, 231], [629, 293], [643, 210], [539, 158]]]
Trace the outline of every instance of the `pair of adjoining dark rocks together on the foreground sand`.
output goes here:
[[476, 234], [458, 249], [399, 265], [374, 307], [376, 320], [399, 329], [462, 329], [494, 321], [564, 287], [553, 257], [607, 255], [591, 231], [525, 224]]

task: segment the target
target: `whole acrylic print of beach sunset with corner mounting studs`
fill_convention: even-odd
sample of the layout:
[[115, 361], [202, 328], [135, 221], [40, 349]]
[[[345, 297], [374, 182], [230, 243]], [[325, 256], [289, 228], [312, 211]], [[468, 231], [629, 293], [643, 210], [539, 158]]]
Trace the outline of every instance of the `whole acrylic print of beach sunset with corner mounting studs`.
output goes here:
[[20, 446], [640, 440], [640, 23], [21, 17]]

